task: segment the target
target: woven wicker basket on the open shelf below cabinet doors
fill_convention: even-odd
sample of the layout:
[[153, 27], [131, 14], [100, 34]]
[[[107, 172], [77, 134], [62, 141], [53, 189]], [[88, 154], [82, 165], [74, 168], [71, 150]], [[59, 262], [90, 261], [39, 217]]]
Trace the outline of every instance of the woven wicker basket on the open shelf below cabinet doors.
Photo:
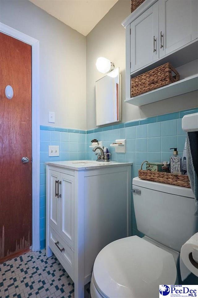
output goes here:
[[[172, 75], [175, 73], [175, 76]], [[131, 97], [179, 81], [179, 73], [170, 63], [165, 63], [131, 79]]]

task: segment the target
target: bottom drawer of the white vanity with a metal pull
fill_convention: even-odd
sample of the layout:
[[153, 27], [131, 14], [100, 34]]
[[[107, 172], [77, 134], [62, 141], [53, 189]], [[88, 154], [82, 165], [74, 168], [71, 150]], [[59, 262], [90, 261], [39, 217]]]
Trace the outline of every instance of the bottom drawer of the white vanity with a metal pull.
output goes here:
[[71, 279], [74, 280], [74, 251], [50, 225], [49, 247]]

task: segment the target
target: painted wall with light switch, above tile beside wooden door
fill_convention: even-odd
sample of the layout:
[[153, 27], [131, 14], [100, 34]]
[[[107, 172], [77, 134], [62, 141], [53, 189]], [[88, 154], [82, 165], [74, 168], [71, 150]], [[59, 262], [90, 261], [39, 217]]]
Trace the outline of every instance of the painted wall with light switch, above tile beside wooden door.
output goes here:
[[40, 124], [86, 129], [86, 38], [28, 0], [0, 0], [0, 22], [40, 41]]

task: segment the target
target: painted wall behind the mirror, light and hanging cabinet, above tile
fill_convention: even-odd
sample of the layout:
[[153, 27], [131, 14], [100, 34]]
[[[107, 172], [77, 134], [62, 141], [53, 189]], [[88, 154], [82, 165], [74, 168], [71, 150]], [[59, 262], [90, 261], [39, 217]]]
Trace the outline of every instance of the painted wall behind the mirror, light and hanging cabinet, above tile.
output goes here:
[[95, 127], [95, 81], [103, 75], [96, 69], [98, 57], [120, 67], [122, 75], [122, 122], [187, 110], [198, 106], [197, 91], [136, 107], [125, 99], [125, 29], [121, 22], [130, 14], [130, 1], [119, 0], [87, 35], [87, 129]]

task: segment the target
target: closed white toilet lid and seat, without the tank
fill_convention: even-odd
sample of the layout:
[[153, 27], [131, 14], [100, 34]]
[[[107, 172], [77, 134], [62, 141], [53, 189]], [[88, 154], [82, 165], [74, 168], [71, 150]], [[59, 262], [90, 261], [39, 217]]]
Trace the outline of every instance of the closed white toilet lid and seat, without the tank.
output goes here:
[[159, 285], [174, 284], [176, 278], [173, 255], [138, 236], [105, 246], [97, 255], [92, 275], [104, 298], [159, 297]]

